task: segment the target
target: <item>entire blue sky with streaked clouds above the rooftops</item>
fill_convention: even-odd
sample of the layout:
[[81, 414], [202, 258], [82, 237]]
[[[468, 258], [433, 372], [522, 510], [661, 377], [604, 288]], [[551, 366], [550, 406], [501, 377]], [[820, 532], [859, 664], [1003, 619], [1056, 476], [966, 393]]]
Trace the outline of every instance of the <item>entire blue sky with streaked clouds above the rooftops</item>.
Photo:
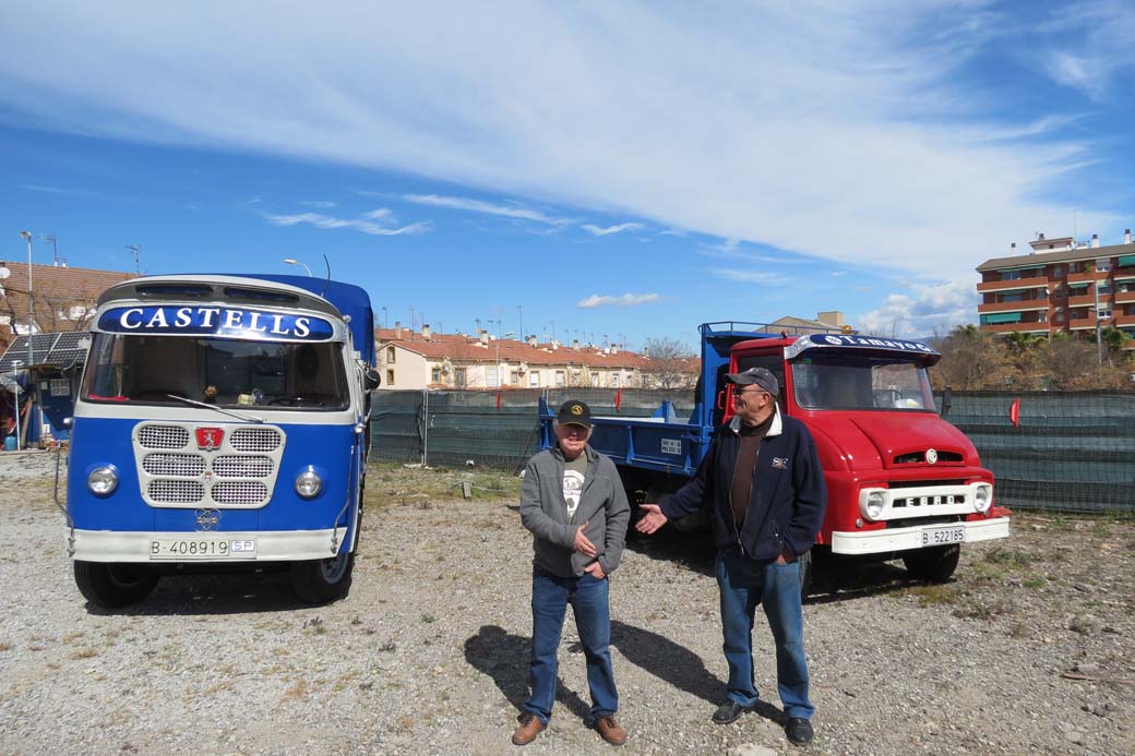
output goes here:
[[1135, 226], [1125, 0], [165, 5], [6, 9], [0, 258], [327, 255], [380, 321], [636, 348], [944, 333], [1010, 242]]

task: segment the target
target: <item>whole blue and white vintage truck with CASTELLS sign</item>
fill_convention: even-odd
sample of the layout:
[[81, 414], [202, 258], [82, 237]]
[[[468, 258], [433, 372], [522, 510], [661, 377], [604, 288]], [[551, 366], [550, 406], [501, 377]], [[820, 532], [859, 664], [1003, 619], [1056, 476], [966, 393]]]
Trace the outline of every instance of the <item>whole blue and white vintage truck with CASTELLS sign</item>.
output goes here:
[[92, 604], [193, 564], [346, 595], [362, 516], [373, 316], [296, 276], [144, 277], [99, 300], [75, 404], [68, 552]]

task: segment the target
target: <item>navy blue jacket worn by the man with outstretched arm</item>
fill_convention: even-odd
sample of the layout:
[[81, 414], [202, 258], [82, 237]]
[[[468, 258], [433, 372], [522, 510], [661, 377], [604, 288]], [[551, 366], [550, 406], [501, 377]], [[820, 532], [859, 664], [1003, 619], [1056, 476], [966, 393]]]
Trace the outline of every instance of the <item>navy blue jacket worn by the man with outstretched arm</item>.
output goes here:
[[739, 546], [755, 560], [774, 560], [785, 546], [796, 555], [804, 554], [816, 543], [827, 506], [827, 487], [812, 434], [776, 408], [757, 453], [749, 510], [738, 532], [729, 493], [741, 447], [740, 428], [741, 421], [734, 417], [717, 429], [693, 478], [658, 502], [662, 513], [674, 520], [705, 504], [713, 507], [718, 549]]

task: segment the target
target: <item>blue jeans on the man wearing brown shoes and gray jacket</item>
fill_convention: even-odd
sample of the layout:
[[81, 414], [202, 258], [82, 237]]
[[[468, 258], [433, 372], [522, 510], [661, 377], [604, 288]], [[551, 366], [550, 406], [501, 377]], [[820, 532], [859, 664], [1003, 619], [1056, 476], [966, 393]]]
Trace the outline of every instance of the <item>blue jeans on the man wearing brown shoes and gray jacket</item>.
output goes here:
[[607, 716], [619, 708], [615, 672], [611, 667], [609, 581], [590, 574], [560, 578], [532, 570], [532, 660], [529, 674], [532, 695], [523, 709], [547, 724], [556, 699], [556, 650], [563, 633], [568, 605], [575, 613], [575, 629], [587, 657], [587, 684], [591, 690], [591, 716]]

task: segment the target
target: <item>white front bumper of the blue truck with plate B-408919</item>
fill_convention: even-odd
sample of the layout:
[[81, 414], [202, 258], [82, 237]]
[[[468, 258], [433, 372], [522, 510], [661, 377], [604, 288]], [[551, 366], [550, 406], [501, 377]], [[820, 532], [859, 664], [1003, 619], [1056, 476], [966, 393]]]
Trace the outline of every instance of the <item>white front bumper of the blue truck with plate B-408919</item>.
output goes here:
[[[333, 528], [250, 532], [117, 532], [76, 529], [72, 556], [84, 562], [152, 563], [326, 560], [338, 553], [344, 536], [344, 528], [339, 528], [337, 532]], [[69, 538], [68, 543], [70, 544]], [[186, 545], [185, 552], [178, 553], [182, 543]], [[171, 549], [175, 544], [177, 548]], [[193, 553], [188, 553], [190, 544], [195, 544]], [[224, 554], [220, 553], [221, 544]]]

